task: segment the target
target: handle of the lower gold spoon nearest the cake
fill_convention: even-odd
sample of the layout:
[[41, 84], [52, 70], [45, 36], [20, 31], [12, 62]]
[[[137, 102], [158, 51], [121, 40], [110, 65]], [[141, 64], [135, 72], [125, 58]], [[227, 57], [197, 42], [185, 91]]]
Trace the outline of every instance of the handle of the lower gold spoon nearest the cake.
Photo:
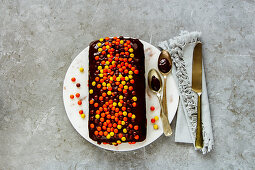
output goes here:
[[170, 136], [170, 135], [172, 135], [173, 132], [172, 132], [171, 126], [169, 124], [168, 116], [166, 116], [164, 114], [164, 108], [162, 106], [161, 96], [159, 93], [157, 93], [157, 97], [158, 97], [158, 100], [160, 103], [160, 118], [161, 118], [162, 125], [163, 125], [163, 132], [164, 132], [165, 136]]

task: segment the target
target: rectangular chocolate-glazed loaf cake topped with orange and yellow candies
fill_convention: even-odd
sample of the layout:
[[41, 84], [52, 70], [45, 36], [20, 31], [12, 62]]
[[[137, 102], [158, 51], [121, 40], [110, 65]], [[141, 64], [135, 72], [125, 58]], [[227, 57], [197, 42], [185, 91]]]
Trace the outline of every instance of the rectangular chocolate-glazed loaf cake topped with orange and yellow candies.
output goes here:
[[138, 39], [101, 38], [89, 47], [89, 136], [118, 145], [146, 138], [144, 49]]

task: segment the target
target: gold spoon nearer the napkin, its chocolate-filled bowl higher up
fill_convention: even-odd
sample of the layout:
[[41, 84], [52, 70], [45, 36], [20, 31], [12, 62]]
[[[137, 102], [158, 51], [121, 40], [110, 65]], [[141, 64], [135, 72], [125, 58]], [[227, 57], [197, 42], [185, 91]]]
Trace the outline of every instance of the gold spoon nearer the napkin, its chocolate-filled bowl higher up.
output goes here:
[[[162, 50], [159, 55], [158, 69], [164, 77], [162, 105], [163, 105], [164, 113], [168, 117], [167, 100], [166, 100], [166, 80], [167, 80], [167, 75], [172, 71], [172, 59], [169, 52], [166, 50]], [[172, 129], [171, 129], [171, 134], [172, 134]]]

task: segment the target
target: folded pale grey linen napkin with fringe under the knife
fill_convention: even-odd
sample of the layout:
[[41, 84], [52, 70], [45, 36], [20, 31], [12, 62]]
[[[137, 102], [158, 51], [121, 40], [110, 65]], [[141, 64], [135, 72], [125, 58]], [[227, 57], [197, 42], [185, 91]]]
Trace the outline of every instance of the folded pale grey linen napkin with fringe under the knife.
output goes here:
[[[159, 44], [168, 50], [173, 60], [173, 75], [178, 84], [180, 104], [177, 112], [175, 142], [193, 143], [195, 146], [197, 124], [197, 95], [192, 91], [192, 59], [193, 50], [201, 36], [200, 32], [182, 31], [178, 37]], [[213, 148], [213, 133], [208, 102], [204, 67], [202, 70], [202, 126], [204, 147], [203, 154]], [[196, 149], [196, 148], [195, 148]]]

